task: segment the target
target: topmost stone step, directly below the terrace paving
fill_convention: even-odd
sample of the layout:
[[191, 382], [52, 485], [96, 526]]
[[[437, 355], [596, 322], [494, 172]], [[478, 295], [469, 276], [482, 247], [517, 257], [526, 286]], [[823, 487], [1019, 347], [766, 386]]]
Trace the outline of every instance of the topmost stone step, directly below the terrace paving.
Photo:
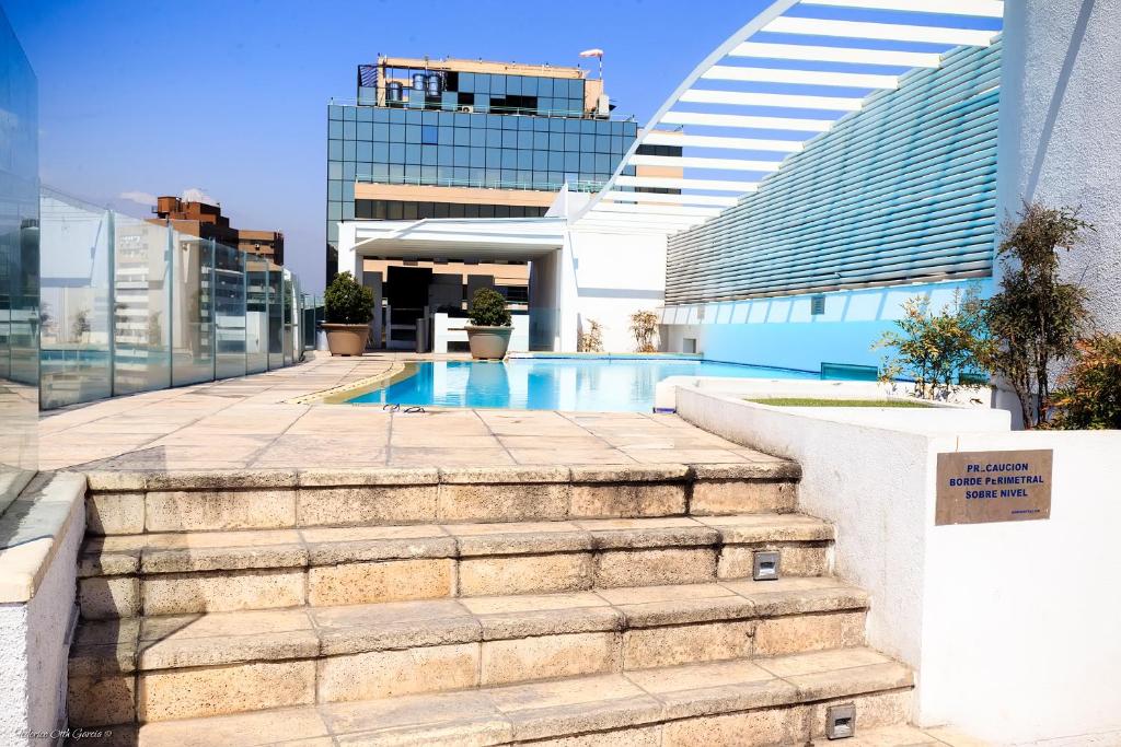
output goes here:
[[94, 534], [794, 511], [800, 467], [713, 465], [92, 471]]

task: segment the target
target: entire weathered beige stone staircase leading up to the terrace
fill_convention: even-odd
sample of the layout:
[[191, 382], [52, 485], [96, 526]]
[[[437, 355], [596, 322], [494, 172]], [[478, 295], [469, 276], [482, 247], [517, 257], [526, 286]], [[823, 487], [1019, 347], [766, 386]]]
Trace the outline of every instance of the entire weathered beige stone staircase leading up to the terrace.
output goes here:
[[[900, 728], [797, 465], [95, 473], [70, 720], [145, 745]], [[781, 578], [752, 580], [780, 553]], [[893, 744], [882, 741], [880, 744]]]

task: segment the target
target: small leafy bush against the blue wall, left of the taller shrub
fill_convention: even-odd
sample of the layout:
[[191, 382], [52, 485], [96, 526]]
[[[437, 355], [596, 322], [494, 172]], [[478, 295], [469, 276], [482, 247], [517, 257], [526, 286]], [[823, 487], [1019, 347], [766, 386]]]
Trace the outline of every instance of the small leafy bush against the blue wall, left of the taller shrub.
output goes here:
[[883, 333], [872, 346], [896, 348], [895, 355], [883, 358], [881, 381], [909, 376], [918, 396], [934, 399], [945, 396], [962, 374], [983, 372], [988, 345], [983, 309], [975, 288], [954, 291], [953, 301], [937, 314], [926, 296], [907, 299], [904, 318], [896, 321], [898, 330]]

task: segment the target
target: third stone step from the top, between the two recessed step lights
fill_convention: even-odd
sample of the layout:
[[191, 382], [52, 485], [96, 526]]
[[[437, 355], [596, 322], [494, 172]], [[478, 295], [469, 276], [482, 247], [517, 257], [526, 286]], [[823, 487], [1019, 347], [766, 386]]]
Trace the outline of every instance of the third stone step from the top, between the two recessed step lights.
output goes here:
[[148, 722], [843, 648], [867, 608], [787, 578], [83, 623], [70, 709]]

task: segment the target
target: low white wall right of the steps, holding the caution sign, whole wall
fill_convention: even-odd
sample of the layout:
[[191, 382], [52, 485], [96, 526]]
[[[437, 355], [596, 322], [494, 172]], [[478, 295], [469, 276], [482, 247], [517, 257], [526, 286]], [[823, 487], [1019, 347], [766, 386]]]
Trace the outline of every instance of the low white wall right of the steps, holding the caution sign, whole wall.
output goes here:
[[[689, 387], [677, 410], [802, 464], [802, 510], [837, 525], [836, 572], [872, 595], [870, 644], [917, 672], [917, 723], [998, 744], [1121, 728], [1121, 433], [1011, 432], [1000, 410], [772, 408]], [[1049, 520], [934, 525], [938, 452], [1032, 448], [1055, 451]]]

